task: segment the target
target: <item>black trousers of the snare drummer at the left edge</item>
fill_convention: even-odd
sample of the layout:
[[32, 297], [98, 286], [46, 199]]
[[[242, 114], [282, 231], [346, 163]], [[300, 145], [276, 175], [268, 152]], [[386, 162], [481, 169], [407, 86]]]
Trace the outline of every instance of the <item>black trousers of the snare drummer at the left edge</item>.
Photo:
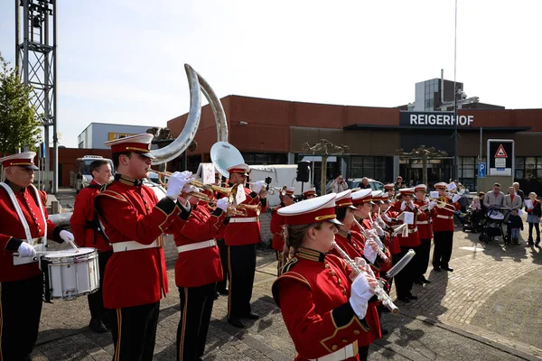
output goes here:
[[21, 281], [0, 282], [0, 293], [0, 360], [20, 361], [32, 353], [38, 338], [43, 275]]

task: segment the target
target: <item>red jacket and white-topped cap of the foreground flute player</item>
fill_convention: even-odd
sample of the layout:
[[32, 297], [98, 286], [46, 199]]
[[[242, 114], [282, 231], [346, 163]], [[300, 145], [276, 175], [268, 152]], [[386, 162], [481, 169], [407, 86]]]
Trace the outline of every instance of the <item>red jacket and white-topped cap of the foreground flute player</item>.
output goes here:
[[[335, 194], [282, 208], [288, 225], [335, 221]], [[314, 202], [313, 202], [314, 201]], [[304, 203], [310, 208], [304, 208]], [[350, 304], [350, 267], [336, 255], [301, 247], [273, 283], [273, 298], [294, 341], [296, 361], [360, 360], [358, 345], [369, 325]], [[368, 311], [369, 313], [369, 311]]]

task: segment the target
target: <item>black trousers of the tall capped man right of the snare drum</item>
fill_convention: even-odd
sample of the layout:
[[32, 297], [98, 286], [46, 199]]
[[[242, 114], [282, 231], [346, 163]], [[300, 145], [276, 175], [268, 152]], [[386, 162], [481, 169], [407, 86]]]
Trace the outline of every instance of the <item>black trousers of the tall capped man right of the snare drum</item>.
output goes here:
[[113, 361], [152, 361], [160, 302], [108, 310]]

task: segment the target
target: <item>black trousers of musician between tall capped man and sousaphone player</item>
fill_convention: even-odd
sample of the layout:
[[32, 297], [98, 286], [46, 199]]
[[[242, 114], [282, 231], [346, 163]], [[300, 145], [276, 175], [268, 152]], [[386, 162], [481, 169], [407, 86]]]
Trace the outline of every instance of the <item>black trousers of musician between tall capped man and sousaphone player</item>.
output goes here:
[[177, 328], [177, 361], [197, 361], [205, 351], [216, 283], [179, 287], [181, 319]]

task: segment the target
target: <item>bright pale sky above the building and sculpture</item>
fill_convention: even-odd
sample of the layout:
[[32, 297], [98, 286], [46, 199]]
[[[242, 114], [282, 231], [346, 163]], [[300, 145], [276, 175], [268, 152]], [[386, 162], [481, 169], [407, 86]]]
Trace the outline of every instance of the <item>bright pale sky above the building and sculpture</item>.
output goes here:
[[[469, 97], [542, 107], [542, 2], [458, 0], [456, 79]], [[166, 126], [189, 109], [183, 64], [219, 97], [350, 106], [413, 102], [453, 80], [455, 0], [58, 1], [58, 127], [77, 147], [91, 122]], [[14, 1], [0, 51], [14, 64]], [[203, 97], [204, 98], [204, 97]], [[206, 104], [204, 101], [203, 104]]]

